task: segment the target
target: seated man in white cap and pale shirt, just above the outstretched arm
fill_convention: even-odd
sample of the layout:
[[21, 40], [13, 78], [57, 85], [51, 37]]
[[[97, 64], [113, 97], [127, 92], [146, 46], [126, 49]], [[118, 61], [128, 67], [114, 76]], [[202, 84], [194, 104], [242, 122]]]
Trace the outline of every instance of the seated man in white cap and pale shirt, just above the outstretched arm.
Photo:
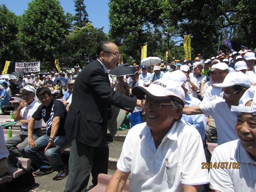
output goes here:
[[196, 92], [193, 91], [192, 96], [195, 98], [198, 98], [201, 96], [201, 86], [202, 83], [205, 83], [206, 81], [206, 76], [202, 75], [202, 69], [204, 67], [204, 63], [203, 62], [194, 62], [193, 64], [193, 73], [189, 74], [189, 78], [190, 81], [192, 81], [192, 83], [194, 83], [197, 86], [197, 90]]

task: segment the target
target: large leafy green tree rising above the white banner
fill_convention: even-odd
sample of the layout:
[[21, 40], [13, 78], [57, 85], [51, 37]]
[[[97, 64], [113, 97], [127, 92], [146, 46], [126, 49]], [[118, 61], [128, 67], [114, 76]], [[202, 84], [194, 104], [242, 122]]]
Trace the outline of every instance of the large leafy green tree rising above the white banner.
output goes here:
[[71, 15], [64, 14], [58, 0], [32, 0], [20, 22], [20, 41], [27, 59], [40, 60], [42, 68], [53, 68], [70, 27]]

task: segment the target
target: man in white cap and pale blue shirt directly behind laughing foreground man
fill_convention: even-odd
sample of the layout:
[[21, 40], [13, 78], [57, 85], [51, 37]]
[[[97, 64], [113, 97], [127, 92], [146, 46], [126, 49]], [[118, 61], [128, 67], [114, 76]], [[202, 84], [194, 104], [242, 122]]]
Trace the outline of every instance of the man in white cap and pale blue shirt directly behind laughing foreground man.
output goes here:
[[[190, 95], [190, 84], [187, 81], [186, 75], [180, 71], [176, 70], [172, 72], [172, 76], [170, 76], [171, 80], [176, 81], [184, 90], [185, 93], [185, 106], [197, 106], [201, 104], [201, 101], [198, 98], [194, 98]], [[206, 129], [206, 117], [203, 114], [198, 115], [182, 115], [182, 118], [180, 119], [180, 122], [190, 125], [201, 135], [202, 142], [204, 143], [205, 138], [205, 129]]]

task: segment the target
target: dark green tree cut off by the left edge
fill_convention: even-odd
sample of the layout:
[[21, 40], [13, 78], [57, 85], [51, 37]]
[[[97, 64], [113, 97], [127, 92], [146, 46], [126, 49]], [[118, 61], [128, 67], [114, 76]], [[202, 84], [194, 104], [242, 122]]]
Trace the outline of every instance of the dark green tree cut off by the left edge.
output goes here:
[[18, 16], [8, 10], [4, 4], [0, 5], [0, 69], [4, 69], [5, 61], [11, 61], [9, 66], [13, 70], [13, 62], [20, 56], [17, 40]]

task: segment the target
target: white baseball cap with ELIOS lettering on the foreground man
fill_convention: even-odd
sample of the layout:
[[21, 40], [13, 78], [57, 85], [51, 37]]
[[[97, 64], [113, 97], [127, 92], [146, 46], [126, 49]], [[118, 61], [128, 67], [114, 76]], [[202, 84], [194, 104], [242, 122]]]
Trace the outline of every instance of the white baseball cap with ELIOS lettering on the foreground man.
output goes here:
[[168, 78], [158, 79], [148, 87], [134, 87], [132, 94], [135, 96], [148, 95], [150, 98], [156, 100], [168, 100], [171, 98], [184, 106], [185, 93], [183, 89], [177, 82]]

